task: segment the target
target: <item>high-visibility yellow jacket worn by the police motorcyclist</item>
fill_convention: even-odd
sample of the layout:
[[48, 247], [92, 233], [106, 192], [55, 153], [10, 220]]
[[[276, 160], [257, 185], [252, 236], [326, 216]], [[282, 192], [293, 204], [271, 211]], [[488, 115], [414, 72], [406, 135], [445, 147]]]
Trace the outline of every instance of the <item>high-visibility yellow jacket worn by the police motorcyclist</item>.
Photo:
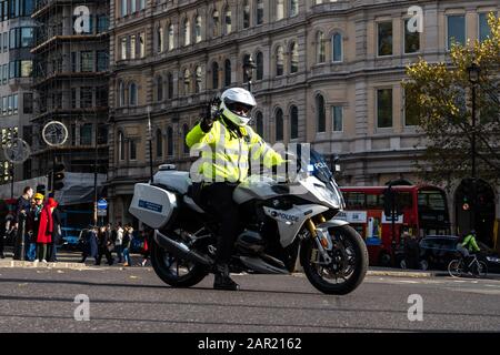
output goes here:
[[261, 162], [266, 168], [284, 162], [250, 126], [237, 129], [240, 130], [240, 136], [220, 119], [213, 122], [208, 133], [204, 133], [198, 123], [186, 136], [190, 149], [201, 151], [201, 161], [197, 169], [202, 181], [243, 181], [248, 176], [249, 155], [252, 163]]

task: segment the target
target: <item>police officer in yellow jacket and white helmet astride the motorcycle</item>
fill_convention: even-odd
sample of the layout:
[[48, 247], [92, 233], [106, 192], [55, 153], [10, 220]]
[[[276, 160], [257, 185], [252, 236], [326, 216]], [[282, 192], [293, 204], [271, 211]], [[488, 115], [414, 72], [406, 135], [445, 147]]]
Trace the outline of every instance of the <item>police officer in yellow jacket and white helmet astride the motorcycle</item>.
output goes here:
[[217, 236], [216, 290], [239, 290], [229, 276], [229, 263], [239, 231], [238, 205], [232, 200], [232, 193], [248, 176], [249, 160], [252, 163], [262, 162], [266, 168], [284, 162], [248, 125], [256, 105], [256, 99], [249, 91], [228, 89], [220, 98], [218, 110], [207, 112], [186, 138], [189, 148], [201, 150], [202, 163], [197, 176], [201, 186], [200, 200], [221, 223]]

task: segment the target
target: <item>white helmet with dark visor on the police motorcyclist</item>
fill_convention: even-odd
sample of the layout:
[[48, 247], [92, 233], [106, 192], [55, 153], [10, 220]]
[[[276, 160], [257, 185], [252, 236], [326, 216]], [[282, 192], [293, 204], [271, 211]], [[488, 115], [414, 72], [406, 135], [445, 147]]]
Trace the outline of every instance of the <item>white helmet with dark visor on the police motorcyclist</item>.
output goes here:
[[251, 119], [250, 112], [257, 105], [253, 95], [241, 88], [226, 90], [220, 101], [222, 114], [237, 125], [247, 125]]

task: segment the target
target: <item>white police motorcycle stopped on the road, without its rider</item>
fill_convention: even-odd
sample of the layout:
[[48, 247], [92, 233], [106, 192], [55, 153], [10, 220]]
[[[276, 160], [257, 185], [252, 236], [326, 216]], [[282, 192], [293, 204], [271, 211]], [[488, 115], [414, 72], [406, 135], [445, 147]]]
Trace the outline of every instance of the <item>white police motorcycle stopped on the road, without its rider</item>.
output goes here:
[[[251, 175], [239, 184], [241, 234], [231, 272], [290, 274], [300, 264], [310, 283], [326, 294], [356, 290], [368, 267], [361, 236], [336, 220], [344, 207], [333, 174], [321, 155], [311, 152], [309, 172], [293, 182]], [[151, 230], [151, 264], [158, 276], [176, 287], [198, 284], [213, 270], [219, 224], [196, 203], [189, 172], [164, 165], [153, 183], [138, 183], [130, 213]]]

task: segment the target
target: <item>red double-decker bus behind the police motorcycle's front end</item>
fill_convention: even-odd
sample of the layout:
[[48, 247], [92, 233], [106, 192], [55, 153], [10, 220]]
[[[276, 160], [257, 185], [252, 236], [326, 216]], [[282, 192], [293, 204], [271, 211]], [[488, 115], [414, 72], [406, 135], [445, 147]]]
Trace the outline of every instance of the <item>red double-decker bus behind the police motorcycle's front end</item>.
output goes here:
[[[450, 233], [450, 217], [447, 196], [442, 189], [430, 185], [392, 186], [397, 191], [396, 203], [402, 214], [394, 221], [383, 212], [384, 191], [388, 186], [341, 187], [346, 211], [336, 217], [344, 219], [367, 243], [371, 265], [394, 265], [397, 254], [402, 250], [401, 235], [447, 235]], [[394, 235], [392, 235], [394, 234]]]

